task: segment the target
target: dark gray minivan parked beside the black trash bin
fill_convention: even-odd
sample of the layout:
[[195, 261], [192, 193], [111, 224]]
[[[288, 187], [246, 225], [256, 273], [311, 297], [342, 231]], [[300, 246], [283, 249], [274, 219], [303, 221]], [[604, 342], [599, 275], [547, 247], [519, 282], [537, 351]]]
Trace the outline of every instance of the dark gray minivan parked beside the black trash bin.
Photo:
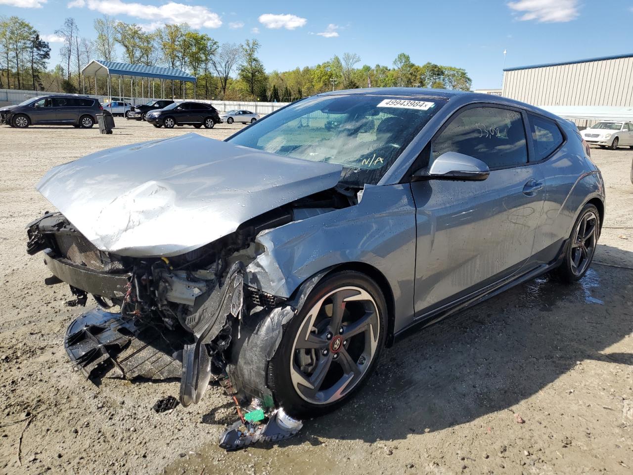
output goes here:
[[4, 122], [19, 129], [53, 124], [90, 129], [101, 113], [101, 103], [87, 96], [39, 96], [5, 111]]

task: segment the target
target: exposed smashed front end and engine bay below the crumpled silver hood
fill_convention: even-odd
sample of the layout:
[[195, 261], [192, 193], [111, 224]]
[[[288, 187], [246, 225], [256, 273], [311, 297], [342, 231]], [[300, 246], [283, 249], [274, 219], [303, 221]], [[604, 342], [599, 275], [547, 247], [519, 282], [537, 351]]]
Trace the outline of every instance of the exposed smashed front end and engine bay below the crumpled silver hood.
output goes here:
[[[213, 379], [239, 405], [255, 401], [268, 411], [268, 422], [277, 424], [283, 415], [285, 426], [298, 430], [290, 416], [277, 415], [265, 364], [299, 305], [259, 289], [261, 270], [249, 264], [265, 253], [257, 237], [266, 230], [356, 203], [356, 190], [335, 187], [248, 220], [196, 250], [151, 258], [99, 250], [64, 215], [46, 213], [28, 225], [27, 251], [44, 253], [53, 274], [47, 284], [70, 285], [75, 299], [68, 305], [85, 306], [92, 296], [101, 307], [78, 317], [66, 333], [66, 352], [86, 377], [109, 371], [125, 379], [179, 377], [183, 406], [198, 403]], [[296, 300], [311, 285], [306, 282]], [[249, 355], [238, 357], [245, 347]], [[251, 443], [284, 433], [261, 424], [251, 429]], [[229, 430], [225, 448], [241, 447], [244, 437]]]

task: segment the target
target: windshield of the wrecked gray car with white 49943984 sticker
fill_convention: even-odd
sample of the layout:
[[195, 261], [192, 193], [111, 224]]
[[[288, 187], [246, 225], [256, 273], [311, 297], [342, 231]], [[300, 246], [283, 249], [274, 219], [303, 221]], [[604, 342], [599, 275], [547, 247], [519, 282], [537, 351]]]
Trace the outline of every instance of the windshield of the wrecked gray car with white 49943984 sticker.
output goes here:
[[343, 165], [341, 183], [377, 184], [430, 118], [438, 99], [315, 96], [255, 122], [227, 141]]

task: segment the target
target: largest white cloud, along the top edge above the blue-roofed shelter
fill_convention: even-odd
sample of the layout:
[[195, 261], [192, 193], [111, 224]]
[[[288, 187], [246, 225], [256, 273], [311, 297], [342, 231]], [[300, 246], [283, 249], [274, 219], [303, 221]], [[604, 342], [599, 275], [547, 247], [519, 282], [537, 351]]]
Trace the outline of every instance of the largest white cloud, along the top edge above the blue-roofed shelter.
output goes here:
[[175, 2], [154, 6], [122, 0], [73, 0], [68, 3], [68, 8], [83, 6], [105, 15], [128, 15], [150, 20], [151, 23], [146, 26], [158, 22], [188, 23], [192, 28], [218, 28], [222, 25], [220, 15], [206, 6], [191, 6]]

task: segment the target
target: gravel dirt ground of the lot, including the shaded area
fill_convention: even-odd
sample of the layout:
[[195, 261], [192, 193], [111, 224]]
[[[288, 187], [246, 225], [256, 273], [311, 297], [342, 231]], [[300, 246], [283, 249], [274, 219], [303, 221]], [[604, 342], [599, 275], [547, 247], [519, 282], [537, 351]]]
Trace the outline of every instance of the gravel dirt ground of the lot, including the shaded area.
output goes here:
[[51, 209], [34, 189], [46, 170], [194, 131], [116, 124], [111, 136], [0, 127], [0, 473], [633, 473], [632, 150], [592, 149], [608, 201], [582, 281], [541, 277], [412, 333], [343, 409], [279, 445], [225, 453], [216, 444], [235, 413], [220, 388], [156, 414], [179, 381], [97, 386], [73, 371], [63, 336], [82, 309], [25, 252], [25, 224]]

